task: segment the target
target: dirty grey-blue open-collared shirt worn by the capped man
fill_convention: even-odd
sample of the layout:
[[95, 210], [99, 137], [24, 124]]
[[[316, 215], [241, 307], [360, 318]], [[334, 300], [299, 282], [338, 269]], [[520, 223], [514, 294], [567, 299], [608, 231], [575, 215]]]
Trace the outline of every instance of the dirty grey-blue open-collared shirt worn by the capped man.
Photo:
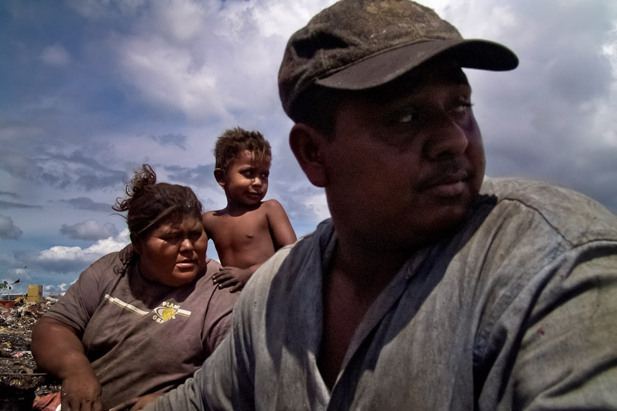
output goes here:
[[266, 262], [230, 338], [156, 410], [617, 410], [617, 218], [588, 197], [485, 179], [465, 225], [374, 301], [330, 391], [316, 358], [336, 242], [325, 221]]

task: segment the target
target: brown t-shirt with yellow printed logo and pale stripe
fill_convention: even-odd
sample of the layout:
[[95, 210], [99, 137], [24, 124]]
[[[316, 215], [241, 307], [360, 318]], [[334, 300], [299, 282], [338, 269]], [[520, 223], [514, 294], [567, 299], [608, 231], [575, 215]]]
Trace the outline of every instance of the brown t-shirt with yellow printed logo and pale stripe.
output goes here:
[[178, 386], [226, 336], [237, 293], [213, 285], [220, 264], [206, 262], [195, 282], [171, 288], [145, 279], [135, 261], [118, 274], [119, 253], [110, 253], [47, 312], [77, 330], [103, 387], [104, 409]]

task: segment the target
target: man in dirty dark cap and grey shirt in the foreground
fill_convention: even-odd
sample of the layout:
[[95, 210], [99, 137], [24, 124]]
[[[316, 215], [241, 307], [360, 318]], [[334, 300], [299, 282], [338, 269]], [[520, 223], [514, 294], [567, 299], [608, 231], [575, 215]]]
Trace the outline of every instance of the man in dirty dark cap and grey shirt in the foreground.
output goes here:
[[156, 410], [617, 409], [616, 216], [484, 177], [461, 67], [517, 64], [409, 0], [293, 34], [280, 97], [332, 219], [263, 264]]

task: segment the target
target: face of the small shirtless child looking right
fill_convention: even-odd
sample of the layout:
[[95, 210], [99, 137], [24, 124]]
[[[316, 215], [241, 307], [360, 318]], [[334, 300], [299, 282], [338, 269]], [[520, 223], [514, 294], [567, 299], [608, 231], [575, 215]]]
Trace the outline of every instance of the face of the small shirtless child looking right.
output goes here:
[[257, 157], [252, 151], [242, 151], [229, 166], [223, 181], [228, 202], [255, 206], [268, 191], [270, 158]]

